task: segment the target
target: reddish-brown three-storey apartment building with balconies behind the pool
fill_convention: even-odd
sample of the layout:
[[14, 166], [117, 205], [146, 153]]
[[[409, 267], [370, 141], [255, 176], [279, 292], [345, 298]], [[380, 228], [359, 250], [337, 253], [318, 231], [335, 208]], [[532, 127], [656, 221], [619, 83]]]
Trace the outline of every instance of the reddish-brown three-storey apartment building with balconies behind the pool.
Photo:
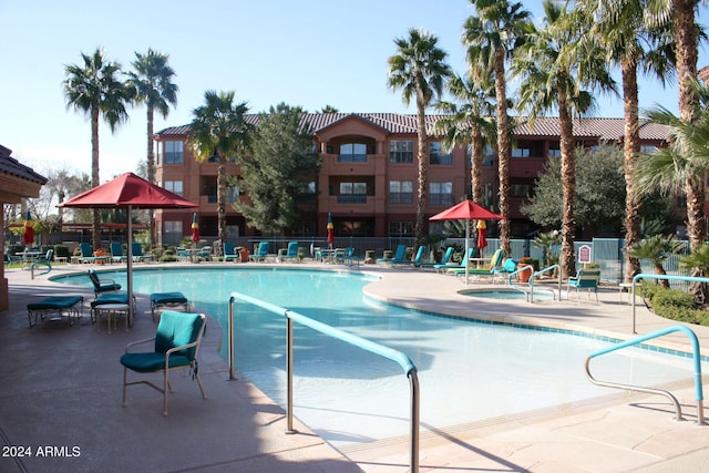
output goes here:
[[[432, 216], [471, 195], [470, 148], [458, 147], [444, 153], [435, 134], [440, 115], [427, 116], [429, 140], [429, 197], [427, 215]], [[257, 115], [248, 115], [256, 122]], [[322, 155], [322, 167], [312, 176], [314, 197], [301, 203], [301, 227], [294, 236], [323, 236], [328, 214], [332, 216], [336, 236], [407, 237], [413, 235], [417, 204], [417, 117], [395, 113], [317, 113], [306, 114], [314, 130], [314, 143]], [[186, 141], [188, 125], [156, 133], [156, 178], [160, 185], [199, 204], [201, 235], [217, 235], [217, 162], [198, 163]], [[621, 143], [623, 119], [579, 119], [574, 123], [578, 145], [592, 147], [600, 143]], [[665, 126], [643, 124], [644, 147], [664, 146]], [[510, 165], [510, 218], [513, 236], [525, 236], [535, 225], [520, 212], [532, 195], [534, 179], [547, 160], [558, 158], [559, 132], [555, 117], [537, 119], [534, 126], [517, 120], [515, 144]], [[239, 175], [238, 163], [228, 164], [230, 175]], [[497, 157], [489, 150], [483, 165], [484, 198], [482, 205], [495, 209], [497, 196]], [[248, 199], [238, 186], [228, 189], [227, 202]], [[232, 206], [226, 212], [229, 238], [258, 236]], [[158, 241], [178, 243], [191, 234], [193, 210], [156, 210]], [[430, 233], [440, 228], [429, 223]], [[494, 228], [491, 228], [494, 235]]]

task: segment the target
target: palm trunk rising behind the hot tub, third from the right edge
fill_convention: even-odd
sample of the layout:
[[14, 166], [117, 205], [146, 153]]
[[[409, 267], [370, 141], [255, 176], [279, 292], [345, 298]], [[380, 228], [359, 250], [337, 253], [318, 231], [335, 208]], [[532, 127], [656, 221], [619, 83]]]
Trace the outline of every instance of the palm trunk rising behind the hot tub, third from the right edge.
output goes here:
[[[563, 83], [563, 81], [561, 81]], [[567, 278], [576, 274], [576, 258], [574, 255], [574, 238], [576, 220], [574, 219], [574, 193], [576, 192], [576, 155], [574, 151], [574, 122], [566, 102], [566, 90], [559, 85], [558, 120], [559, 147], [562, 152], [562, 250], [559, 266], [562, 277]]]

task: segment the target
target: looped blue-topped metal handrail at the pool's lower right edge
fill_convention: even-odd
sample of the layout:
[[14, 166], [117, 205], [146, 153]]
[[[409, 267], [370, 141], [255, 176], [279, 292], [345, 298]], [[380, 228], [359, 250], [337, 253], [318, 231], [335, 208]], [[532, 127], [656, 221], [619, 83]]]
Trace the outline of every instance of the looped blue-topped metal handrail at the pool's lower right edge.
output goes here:
[[598, 357], [600, 354], [605, 354], [605, 353], [609, 353], [612, 351], [616, 351], [619, 350], [621, 348], [626, 348], [626, 347], [631, 347], [631, 346], [636, 346], [641, 343], [643, 341], [646, 340], [650, 340], [654, 338], [658, 338], [658, 337], [662, 337], [668, 333], [672, 333], [676, 331], [684, 331], [685, 333], [687, 333], [687, 336], [689, 337], [690, 341], [691, 341], [691, 347], [692, 347], [692, 356], [693, 356], [693, 369], [695, 369], [695, 398], [697, 400], [697, 423], [702, 425], [705, 423], [705, 417], [703, 417], [703, 394], [702, 394], [702, 388], [701, 388], [701, 354], [700, 354], [700, 350], [699, 350], [699, 340], [697, 339], [697, 335], [689, 328], [685, 327], [685, 326], [672, 326], [672, 327], [668, 327], [666, 329], [662, 330], [658, 330], [655, 331], [653, 333], [648, 333], [638, 338], [635, 338], [633, 340], [627, 340], [617, 345], [614, 345], [613, 347], [608, 347], [608, 348], [604, 348], [600, 350], [596, 350], [593, 353], [590, 353], [588, 356], [588, 358], [586, 358], [586, 377], [590, 380], [592, 383], [597, 384], [597, 385], [603, 385], [606, 388], [617, 388], [617, 389], [625, 389], [628, 391], [639, 391], [639, 392], [646, 392], [649, 394], [661, 394], [667, 397], [674, 404], [675, 404], [675, 410], [677, 411], [677, 420], [681, 421], [682, 420], [682, 410], [681, 407], [679, 405], [679, 402], [677, 401], [677, 398], [675, 398], [672, 395], [671, 392], [669, 391], [665, 391], [661, 389], [654, 389], [654, 388], [643, 388], [643, 387], [637, 387], [637, 385], [630, 385], [630, 384], [621, 384], [621, 383], [614, 383], [614, 382], [608, 382], [608, 381], [598, 381], [596, 380], [592, 374], [590, 374], [590, 360], [595, 357]]

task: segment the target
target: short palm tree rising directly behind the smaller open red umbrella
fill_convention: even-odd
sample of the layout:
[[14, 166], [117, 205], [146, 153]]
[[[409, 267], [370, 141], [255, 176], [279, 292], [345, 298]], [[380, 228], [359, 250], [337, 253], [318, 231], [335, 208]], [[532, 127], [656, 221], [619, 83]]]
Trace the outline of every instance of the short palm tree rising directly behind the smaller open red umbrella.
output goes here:
[[482, 167], [485, 145], [497, 147], [494, 83], [483, 74], [451, 76], [445, 89], [456, 102], [439, 102], [435, 109], [445, 114], [435, 122], [435, 131], [443, 135], [445, 151], [471, 145], [471, 191], [473, 202], [483, 200]]

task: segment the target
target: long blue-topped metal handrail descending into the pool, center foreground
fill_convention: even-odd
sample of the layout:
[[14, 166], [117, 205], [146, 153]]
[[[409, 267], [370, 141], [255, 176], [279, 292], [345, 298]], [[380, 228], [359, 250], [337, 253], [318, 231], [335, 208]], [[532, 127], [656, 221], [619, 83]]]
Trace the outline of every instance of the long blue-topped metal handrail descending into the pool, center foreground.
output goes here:
[[411, 420], [410, 420], [410, 457], [409, 457], [409, 466], [411, 472], [419, 471], [419, 424], [420, 424], [420, 389], [419, 389], [419, 376], [415, 364], [411, 361], [411, 359], [404, 353], [394, 350], [389, 347], [384, 347], [383, 345], [377, 343], [371, 340], [367, 340], [362, 337], [358, 337], [353, 333], [346, 332], [335, 327], [330, 327], [320, 321], [314, 320], [309, 317], [295, 312], [292, 310], [285, 309], [280, 306], [276, 306], [274, 304], [265, 302], [263, 300], [256, 299], [254, 297], [240, 294], [240, 292], [232, 292], [229, 298], [229, 319], [228, 319], [228, 331], [229, 331], [229, 379], [235, 378], [235, 362], [234, 362], [234, 302], [236, 299], [244, 300], [248, 304], [261, 307], [273, 313], [282, 315], [287, 320], [287, 371], [288, 371], [288, 391], [287, 391], [287, 431], [286, 433], [297, 433], [292, 428], [292, 394], [294, 394], [294, 383], [292, 383], [292, 322], [294, 320], [311, 328], [312, 330], [319, 331], [326, 336], [336, 338], [338, 340], [345, 341], [346, 343], [352, 345], [354, 347], [361, 348], [362, 350], [367, 350], [371, 353], [378, 354], [380, 357], [387, 358], [391, 361], [395, 361], [403, 369], [404, 374], [409, 378], [409, 384], [411, 389], [410, 400], [411, 400]]

